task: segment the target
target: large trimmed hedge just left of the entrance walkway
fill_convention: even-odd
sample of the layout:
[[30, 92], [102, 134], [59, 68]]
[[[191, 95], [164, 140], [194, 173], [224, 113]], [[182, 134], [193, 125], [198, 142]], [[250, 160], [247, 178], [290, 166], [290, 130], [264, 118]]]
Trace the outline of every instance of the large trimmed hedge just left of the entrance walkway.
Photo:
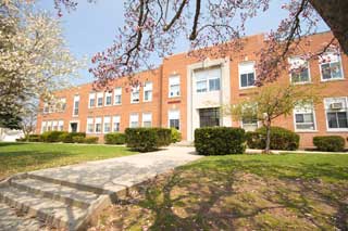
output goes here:
[[166, 128], [127, 128], [126, 144], [139, 152], [150, 152], [171, 143], [171, 130]]

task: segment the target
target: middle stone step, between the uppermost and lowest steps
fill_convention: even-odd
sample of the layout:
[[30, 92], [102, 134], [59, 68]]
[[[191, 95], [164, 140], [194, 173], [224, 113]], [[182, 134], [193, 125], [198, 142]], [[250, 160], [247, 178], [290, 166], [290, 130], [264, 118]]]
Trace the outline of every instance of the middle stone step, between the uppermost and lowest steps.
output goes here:
[[69, 206], [63, 202], [41, 197], [14, 187], [0, 188], [0, 202], [57, 229], [76, 230], [87, 215], [86, 209]]

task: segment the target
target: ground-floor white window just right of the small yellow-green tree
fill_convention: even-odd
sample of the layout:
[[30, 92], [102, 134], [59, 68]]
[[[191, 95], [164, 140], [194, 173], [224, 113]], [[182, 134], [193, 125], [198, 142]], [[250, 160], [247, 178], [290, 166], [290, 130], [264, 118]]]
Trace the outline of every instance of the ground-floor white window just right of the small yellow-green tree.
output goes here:
[[313, 131], [315, 130], [315, 115], [313, 105], [301, 105], [294, 108], [295, 130]]

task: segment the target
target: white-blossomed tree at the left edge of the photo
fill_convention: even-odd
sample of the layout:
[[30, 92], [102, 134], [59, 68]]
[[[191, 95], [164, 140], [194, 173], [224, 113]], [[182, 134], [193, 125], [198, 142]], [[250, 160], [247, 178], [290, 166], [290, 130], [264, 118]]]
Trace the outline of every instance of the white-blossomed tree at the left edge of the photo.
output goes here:
[[59, 22], [21, 1], [0, 1], [0, 124], [39, 98], [66, 87], [80, 63], [65, 47]]

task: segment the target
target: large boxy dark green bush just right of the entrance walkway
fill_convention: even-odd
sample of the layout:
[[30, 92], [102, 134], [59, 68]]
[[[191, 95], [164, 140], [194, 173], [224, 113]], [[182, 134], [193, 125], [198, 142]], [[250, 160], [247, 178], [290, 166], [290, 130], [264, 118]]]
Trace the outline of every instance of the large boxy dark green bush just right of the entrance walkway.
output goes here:
[[195, 130], [195, 147], [200, 155], [226, 155], [245, 152], [245, 130], [208, 127]]

